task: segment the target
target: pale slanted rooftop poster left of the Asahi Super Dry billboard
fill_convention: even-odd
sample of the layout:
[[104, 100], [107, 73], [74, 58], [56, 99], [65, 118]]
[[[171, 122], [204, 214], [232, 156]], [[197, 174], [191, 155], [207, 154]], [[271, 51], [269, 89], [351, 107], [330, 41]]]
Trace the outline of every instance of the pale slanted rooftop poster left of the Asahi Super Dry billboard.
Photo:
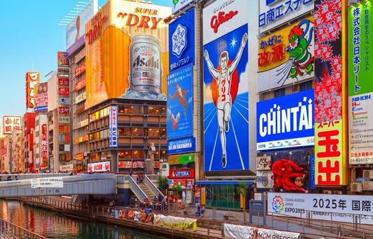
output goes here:
[[84, 44], [86, 23], [97, 12], [98, 0], [89, 1], [86, 7], [66, 25], [66, 57]]

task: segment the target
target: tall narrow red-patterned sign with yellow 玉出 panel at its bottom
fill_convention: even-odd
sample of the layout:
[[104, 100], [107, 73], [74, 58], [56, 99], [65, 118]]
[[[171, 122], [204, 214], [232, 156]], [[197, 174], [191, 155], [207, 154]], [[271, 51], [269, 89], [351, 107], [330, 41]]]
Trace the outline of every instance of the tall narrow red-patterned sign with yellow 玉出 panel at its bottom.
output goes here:
[[[342, 139], [342, 5], [315, 0], [316, 186], [347, 184]], [[331, 27], [333, 26], [333, 27]], [[319, 143], [322, 143], [320, 147]]]

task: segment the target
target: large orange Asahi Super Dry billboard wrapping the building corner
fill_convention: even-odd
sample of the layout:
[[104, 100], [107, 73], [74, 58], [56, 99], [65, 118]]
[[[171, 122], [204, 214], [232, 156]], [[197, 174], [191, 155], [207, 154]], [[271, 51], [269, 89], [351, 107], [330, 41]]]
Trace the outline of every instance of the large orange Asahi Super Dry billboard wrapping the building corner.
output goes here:
[[86, 108], [110, 98], [166, 100], [171, 8], [110, 0], [86, 24]]

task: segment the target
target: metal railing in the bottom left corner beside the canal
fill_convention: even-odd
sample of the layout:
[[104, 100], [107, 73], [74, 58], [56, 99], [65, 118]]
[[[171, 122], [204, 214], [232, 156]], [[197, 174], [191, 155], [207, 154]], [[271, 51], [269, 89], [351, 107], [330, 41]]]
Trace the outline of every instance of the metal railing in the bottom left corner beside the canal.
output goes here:
[[0, 235], [1, 239], [47, 239], [33, 231], [29, 231], [23, 227], [0, 219]]

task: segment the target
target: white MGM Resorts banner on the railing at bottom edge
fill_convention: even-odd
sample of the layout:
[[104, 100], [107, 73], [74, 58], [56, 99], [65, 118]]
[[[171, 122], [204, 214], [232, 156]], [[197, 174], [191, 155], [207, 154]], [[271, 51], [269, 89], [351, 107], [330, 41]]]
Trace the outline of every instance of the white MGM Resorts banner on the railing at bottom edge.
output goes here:
[[278, 231], [224, 223], [224, 237], [237, 239], [262, 239], [262, 238], [286, 238], [298, 239], [300, 234], [296, 232]]

